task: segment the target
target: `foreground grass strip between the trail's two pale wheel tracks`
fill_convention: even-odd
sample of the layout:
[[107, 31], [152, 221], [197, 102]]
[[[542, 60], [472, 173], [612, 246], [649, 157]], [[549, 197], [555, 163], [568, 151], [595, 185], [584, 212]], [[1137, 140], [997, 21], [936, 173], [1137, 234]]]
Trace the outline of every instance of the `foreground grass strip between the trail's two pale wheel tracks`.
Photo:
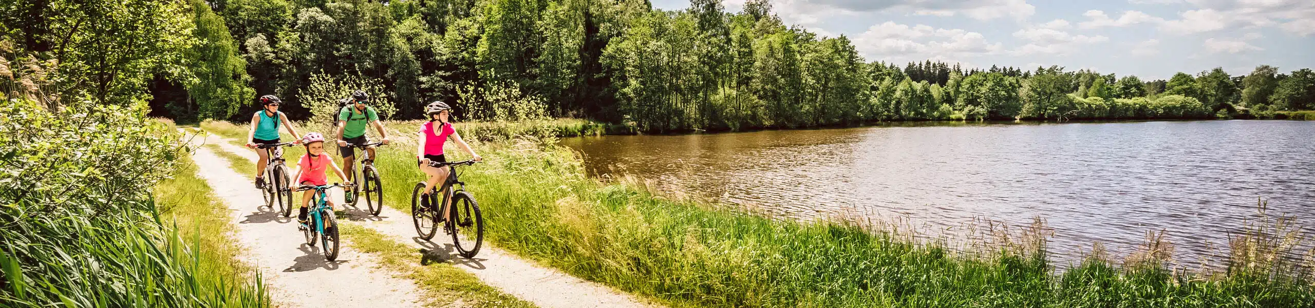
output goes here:
[[425, 291], [419, 297], [430, 300], [429, 307], [535, 307], [484, 284], [469, 272], [434, 259], [421, 249], [388, 240], [388, 236], [356, 222], [342, 224], [342, 236], [352, 247], [379, 255], [385, 269], [414, 280]]

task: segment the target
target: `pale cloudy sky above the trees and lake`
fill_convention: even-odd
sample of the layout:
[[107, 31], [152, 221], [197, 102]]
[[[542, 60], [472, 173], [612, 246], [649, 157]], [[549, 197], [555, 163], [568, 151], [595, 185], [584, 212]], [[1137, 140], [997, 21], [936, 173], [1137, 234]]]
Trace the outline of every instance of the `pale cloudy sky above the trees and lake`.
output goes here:
[[[651, 0], [685, 9], [688, 0]], [[769, 0], [785, 24], [846, 36], [868, 61], [939, 59], [1168, 79], [1315, 68], [1315, 0]], [[739, 12], [743, 0], [723, 1]]]

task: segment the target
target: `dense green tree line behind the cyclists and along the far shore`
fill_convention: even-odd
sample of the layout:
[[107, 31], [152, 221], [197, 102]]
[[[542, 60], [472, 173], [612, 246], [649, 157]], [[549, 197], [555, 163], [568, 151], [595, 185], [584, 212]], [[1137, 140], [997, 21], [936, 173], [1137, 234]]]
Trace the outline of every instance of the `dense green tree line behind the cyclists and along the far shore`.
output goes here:
[[[54, 50], [67, 39], [53, 28], [84, 22], [59, 14], [59, 3], [5, 8], [7, 33], [28, 38], [16, 39], [24, 49]], [[646, 0], [113, 5], [132, 11], [146, 4], [162, 7], [150, 12], [158, 16], [107, 30], [176, 38], [146, 50], [84, 49], [95, 43], [71, 50], [92, 58], [174, 55], [149, 59], [156, 67], [135, 70], [129, 80], [109, 79], [128, 90], [137, 86], [137, 92], [121, 92], [149, 97], [155, 113], [184, 121], [241, 118], [264, 93], [284, 97], [285, 112], [308, 118], [343, 84], [376, 90], [379, 104], [394, 107], [385, 115], [391, 118], [417, 118], [425, 103], [444, 100], [458, 103], [456, 116], [466, 120], [583, 117], [650, 132], [905, 120], [1264, 117], [1315, 109], [1308, 68], [1281, 74], [1260, 66], [1244, 76], [1214, 68], [1141, 80], [1057, 66], [965, 70], [931, 61], [902, 67], [868, 62], [844, 36], [782, 24], [765, 0], [746, 1], [743, 12], [726, 12], [718, 0], [692, 0], [682, 11], [654, 9]], [[168, 17], [166, 11], [185, 13]], [[172, 24], [150, 26], [160, 22]], [[101, 75], [91, 79], [104, 82]], [[92, 92], [104, 97], [114, 91]]]

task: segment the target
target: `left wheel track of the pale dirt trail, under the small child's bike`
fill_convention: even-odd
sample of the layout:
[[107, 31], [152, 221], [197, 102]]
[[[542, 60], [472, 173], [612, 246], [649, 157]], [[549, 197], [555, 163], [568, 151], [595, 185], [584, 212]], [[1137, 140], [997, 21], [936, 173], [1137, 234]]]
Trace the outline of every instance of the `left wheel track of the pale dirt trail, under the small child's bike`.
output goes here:
[[[227, 143], [213, 136], [205, 142]], [[200, 143], [200, 138], [193, 143]], [[250, 150], [246, 153], [255, 158]], [[410, 280], [393, 278], [372, 262], [375, 258], [350, 245], [342, 246], [338, 261], [325, 261], [318, 247], [305, 244], [296, 217], [259, 211], [264, 199], [251, 184], [251, 176], [231, 170], [210, 149], [200, 147], [192, 159], [231, 213], [234, 237], [245, 246], [238, 258], [260, 270], [279, 307], [419, 307], [418, 291]]]

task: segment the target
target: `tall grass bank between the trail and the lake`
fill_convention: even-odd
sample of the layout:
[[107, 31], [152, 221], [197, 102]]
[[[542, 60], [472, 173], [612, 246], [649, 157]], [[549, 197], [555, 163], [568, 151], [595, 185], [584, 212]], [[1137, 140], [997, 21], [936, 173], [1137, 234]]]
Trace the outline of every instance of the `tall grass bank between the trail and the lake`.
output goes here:
[[[391, 125], [414, 130], [404, 126]], [[422, 175], [414, 140], [394, 141], [380, 149], [376, 166], [385, 205], [408, 212]], [[673, 305], [1315, 307], [1310, 265], [1278, 257], [1306, 238], [1273, 228], [1281, 224], [1247, 225], [1255, 233], [1235, 237], [1233, 258], [1219, 271], [1169, 269], [1169, 245], [1156, 240], [1122, 261], [1095, 250], [1057, 272], [1040, 225], [964, 249], [857, 222], [771, 220], [636, 183], [600, 183], [552, 140], [475, 146], [488, 163], [462, 168], [462, 179], [484, 209], [493, 244]]]

